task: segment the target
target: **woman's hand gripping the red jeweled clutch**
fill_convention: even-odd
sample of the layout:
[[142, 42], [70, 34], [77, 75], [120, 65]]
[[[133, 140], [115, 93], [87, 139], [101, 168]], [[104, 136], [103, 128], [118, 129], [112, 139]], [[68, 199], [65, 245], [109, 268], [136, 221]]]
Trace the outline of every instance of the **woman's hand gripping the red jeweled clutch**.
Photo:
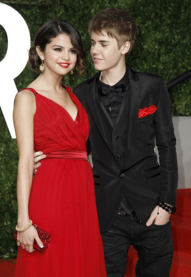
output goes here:
[[29, 253], [35, 251], [33, 249], [34, 240], [36, 240], [38, 246], [43, 248], [42, 241], [38, 237], [37, 230], [33, 225], [25, 231], [17, 232], [17, 245], [21, 246], [22, 249], [25, 249]]

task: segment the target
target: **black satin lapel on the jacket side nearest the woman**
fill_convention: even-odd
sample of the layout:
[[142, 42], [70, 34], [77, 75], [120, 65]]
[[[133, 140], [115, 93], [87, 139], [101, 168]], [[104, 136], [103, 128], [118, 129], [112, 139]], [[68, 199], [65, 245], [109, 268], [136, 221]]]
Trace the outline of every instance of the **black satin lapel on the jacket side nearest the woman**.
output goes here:
[[[91, 84], [88, 85], [88, 87], [86, 89], [86, 99], [87, 99], [87, 103], [88, 103], [89, 109], [91, 111], [92, 117], [95, 121], [95, 124], [97, 125], [97, 129], [99, 130], [99, 132], [102, 135], [102, 137], [104, 138], [105, 142], [110, 147], [113, 154], [115, 155], [111, 139], [109, 137], [109, 134], [107, 132], [107, 129], [105, 127], [104, 121], [102, 119], [102, 116], [100, 114], [100, 110], [98, 107], [98, 105], [100, 105], [100, 103], [99, 103], [99, 99], [98, 99], [98, 95], [97, 95], [97, 86], [96, 86], [95, 81], [93, 81]], [[90, 124], [91, 124], [91, 122], [90, 122]]]

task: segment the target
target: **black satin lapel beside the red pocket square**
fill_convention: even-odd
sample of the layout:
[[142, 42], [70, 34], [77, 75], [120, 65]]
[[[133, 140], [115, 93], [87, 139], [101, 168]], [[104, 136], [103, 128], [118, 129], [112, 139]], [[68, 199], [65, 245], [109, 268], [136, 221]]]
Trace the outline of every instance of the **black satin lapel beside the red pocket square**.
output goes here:
[[135, 129], [137, 126], [139, 107], [141, 98], [141, 84], [129, 78], [129, 119], [127, 130], [127, 144], [125, 151], [125, 160], [129, 153], [131, 143], [134, 138]]

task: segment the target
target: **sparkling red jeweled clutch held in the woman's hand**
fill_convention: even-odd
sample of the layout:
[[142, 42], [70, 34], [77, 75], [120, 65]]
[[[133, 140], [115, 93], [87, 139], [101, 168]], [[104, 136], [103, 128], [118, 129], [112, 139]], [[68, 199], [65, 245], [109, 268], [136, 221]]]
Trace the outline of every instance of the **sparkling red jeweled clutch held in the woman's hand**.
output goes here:
[[[49, 245], [51, 235], [48, 234], [45, 231], [42, 231], [42, 230], [38, 229], [37, 225], [34, 224], [33, 226], [36, 228], [38, 236], [39, 236], [39, 238], [42, 241], [42, 244], [44, 246], [43, 248], [40, 248], [40, 246], [38, 246], [36, 240], [34, 240], [33, 249], [39, 251], [40, 253], [44, 253], [44, 252], [47, 251], [47, 247]], [[13, 239], [17, 240], [17, 231], [16, 230], [15, 230]]]

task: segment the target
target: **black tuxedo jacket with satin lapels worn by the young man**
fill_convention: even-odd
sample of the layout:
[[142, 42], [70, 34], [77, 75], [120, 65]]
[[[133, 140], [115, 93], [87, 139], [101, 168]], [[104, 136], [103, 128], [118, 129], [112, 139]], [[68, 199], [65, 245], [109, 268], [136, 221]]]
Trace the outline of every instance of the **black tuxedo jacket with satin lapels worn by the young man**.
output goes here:
[[[143, 224], [159, 199], [176, 206], [178, 170], [172, 105], [164, 79], [129, 69], [129, 96], [123, 108], [129, 109], [129, 116], [120, 117], [112, 134], [120, 136], [122, 129], [127, 129], [120, 164], [105, 124], [109, 119], [98, 98], [97, 75], [78, 85], [73, 93], [89, 116], [95, 197], [100, 231], [105, 232], [117, 215], [123, 193]], [[156, 112], [139, 118], [139, 109], [151, 105], [157, 107]], [[155, 140], [160, 166], [154, 153]]]

